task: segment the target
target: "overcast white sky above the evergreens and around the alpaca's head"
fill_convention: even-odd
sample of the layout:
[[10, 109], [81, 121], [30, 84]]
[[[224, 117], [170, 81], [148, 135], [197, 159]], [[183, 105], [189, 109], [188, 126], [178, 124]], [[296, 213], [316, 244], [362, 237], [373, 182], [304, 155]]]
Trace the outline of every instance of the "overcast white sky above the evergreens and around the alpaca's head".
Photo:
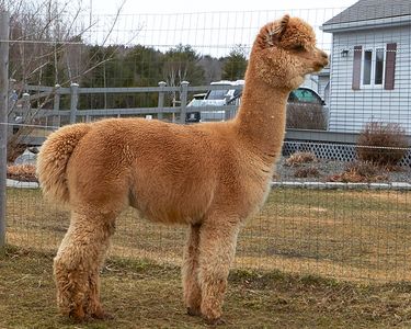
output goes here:
[[[92, 12], [90, 43], [101, 44], [123, 0], [83, 0]], [[141, 44], [167, 50], [178, 44], [192, 45], [204, 55], [226, 56], [236, 45], [250, 49], [259, 29], [285, 13], [300, 16], [316, 30], [318, 44], [331, 49], [331, 35], [320, 26], [356, 0], [249, 0], [182, 1], [126, 0], [111, 44]], [[84, 14], [85, 14], [84, 12]]]

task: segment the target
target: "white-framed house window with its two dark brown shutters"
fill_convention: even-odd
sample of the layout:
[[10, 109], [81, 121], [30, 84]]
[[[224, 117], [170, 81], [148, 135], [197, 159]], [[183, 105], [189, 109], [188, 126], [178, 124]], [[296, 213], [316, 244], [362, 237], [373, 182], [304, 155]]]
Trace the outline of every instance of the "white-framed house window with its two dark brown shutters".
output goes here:
[[393, 90], [397, 44], [386, 46], [354, 46], [353, 90], [380, 87]]

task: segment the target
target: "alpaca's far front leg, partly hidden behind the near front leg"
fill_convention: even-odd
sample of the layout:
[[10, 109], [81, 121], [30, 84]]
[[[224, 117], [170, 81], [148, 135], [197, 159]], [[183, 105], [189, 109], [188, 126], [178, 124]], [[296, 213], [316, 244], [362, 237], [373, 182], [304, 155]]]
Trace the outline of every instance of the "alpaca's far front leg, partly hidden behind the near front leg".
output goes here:
[[199, 225], [191, 225], [182, 266], [184, 303], [189, 315], [199, 315], [202, 292], [198, 284]]

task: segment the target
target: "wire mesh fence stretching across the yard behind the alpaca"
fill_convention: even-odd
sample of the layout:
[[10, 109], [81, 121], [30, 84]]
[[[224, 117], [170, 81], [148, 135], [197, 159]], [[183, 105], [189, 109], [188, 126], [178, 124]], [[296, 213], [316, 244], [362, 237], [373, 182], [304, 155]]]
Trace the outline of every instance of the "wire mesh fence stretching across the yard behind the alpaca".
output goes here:
[[[381, 141], [373, 146], [389, 154], [403, 149], [398, 163], [377, 169], [352, 163], [358, 149], [352, 139], [366, 123], [396, 123], [404, 136], [411, 134], [410, 9], [410, 4], [402, 5], [400, 15], [392, 15], [385, 4], [369, 9], [375, 15], [364, 26], [361, 15], [345, 9], [288, 11], [315, 27], [319, 47], [331, 56], [330, 67], [307, 77], [306, 90], [288, 102], [297, 118], [307, 115], [293, 128], [306, 128], [307, 121], [319, 120], [310, 113], [320, 109], [323, 135], [295, 132], [300, 139], [285, 141], [267, 202], [240, 234], [236, 266], [344, 280], [411, 280], [410, 140], [406, 137], [406, 146]], [[84, 19], [75, 10], [73, 23], [68, 24], [70, 16], [62, 15], [68, 9], [53, 9], [44, 22], [28, 15], [30, 10], [16, 13], [13, 22], [20, 23], [11, 29], [10, 166], [21, 164], [26, 148], [38, 146], [58, 126], [73, 122], [144, 116], [197, 124], [232, 117], [241, 104], [235, 92], [242, 89], [255, 34], [284, 14], [252, 11]], [[50, 19], [50, 13], [59, 20]], [[32, 24], [23, 25], [19, 18]], [[48, 27], [36, 33], [33, 24]], [[159, 87], [160, 81], [165, 83]], [[190, 81], [185, 92], [183, 81]], [[75, 92], [72, 83], [78, 83]], [[113, 92], [116, 88], [122, 92]], [[207, 103], [207, 98], [210, 99], [212, 91], [224, 91], [215, 104]], [[197, 112], [193, 122], [186, 120]], [[289, 160], [301, 151], [313, 154], [313, 160]], [[34, 164], [35, 156], [27, 152], [26, 157], [22, 161]], [[45, 202], [35, 180], [22, 182], [22, 174], [9, 175], [8, 243], [55, 251], [69, 225], [68, 211]], [[111, 254], [180, 264], [184, 241], [184, 227], [149, 223], [129, 208], [117, 219]]]

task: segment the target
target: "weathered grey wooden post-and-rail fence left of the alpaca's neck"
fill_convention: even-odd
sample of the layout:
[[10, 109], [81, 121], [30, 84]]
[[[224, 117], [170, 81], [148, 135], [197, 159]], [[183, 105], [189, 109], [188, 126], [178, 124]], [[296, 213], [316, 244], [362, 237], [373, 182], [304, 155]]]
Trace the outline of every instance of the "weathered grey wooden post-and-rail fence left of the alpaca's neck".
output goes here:
[[[183, 81], [180, 87], [167, 87], [165, 82], [160, 81], [159, 87], [136, 87], [136, 88], [81, 88], [77, 83], [72, 83], [70, 88], [61, 88], [59, 84], [56, 87], [45, 87], [45, 86], [26, 86], [24, 88], [25, 93], [23, 93], [22, 99], [16, 101], [16, 105], [20, 104], [20, 109], [14, 106], [13, 111], [10, 111], [9, 122], [13, 124], [13, 117], [32, 117], [32, 118], [43, 118], [57, 116], [57, 121], [61, 122], [61, 116], [69, 117], [69, 123], [76, 123], [79, 118], [82, 121], [90, 122], [93, 117], [101, 116], [116, 116], [121, 117], [124, 115], [148, 115], [156, 114], [158, 118], [162, 120], [161, 114], [179, 114], [179, 123], [185, 123], [185, 114], [187, 111], [189, 93], [198, 91], [209, 91], [209, 90], [226, 90], [227, 86], [195, 86], [191, 87], [190, 82]], [[242, 90], [242, 86], [232, 86], [232, 90]], [[37, 92], [37, 93], [32, 93]], [[170, 92], [178, 92], [180, 94], [180, 100], [178, 106], [164, 106], [164, 94]], [[31, 94], [32, 93], [32, 94]], [[138, 93], [157, 93], [158, 94], [158, 106], [157, 107], [127, 107], [127, 109], [89, 109], [79, 110], [78, 101], [80, 95], [92, 95], [92, 94], [138, 94]], [[70, 109], [60, 109], [60, 95], [70, 95]], [[53, 100], [53, 110], [46, 109], [33, 109], [31, 106], [32, 101], [39, 100], [42, 98]], [[226, 117], [232, 116], [238, 106], [236, 105], [224, 105], [224, 106], [202, 106], [195, 107], [196, 112], [207, 111], [207, 112], [219, 112], [224, 111], [227, 113]], [[175, 120], [174, 120], [175, 122]], [[30, 136], [27, 136], [30, 139]], [[33, 140], [33, 139], [30, 139]], [[39, 139], [36, 139], [39, 140]]]

